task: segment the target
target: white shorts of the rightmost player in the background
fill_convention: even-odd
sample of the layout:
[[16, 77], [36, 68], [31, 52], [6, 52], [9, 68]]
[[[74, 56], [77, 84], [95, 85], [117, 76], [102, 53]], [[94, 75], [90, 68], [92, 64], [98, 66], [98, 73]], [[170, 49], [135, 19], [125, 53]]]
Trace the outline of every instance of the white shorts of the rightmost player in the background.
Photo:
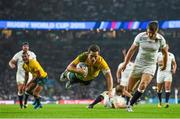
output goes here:
[[158, 71], [156, 81], [157, 81], [157, 83], [164, 83], [165, 81], [172, 82], [172, 73]]

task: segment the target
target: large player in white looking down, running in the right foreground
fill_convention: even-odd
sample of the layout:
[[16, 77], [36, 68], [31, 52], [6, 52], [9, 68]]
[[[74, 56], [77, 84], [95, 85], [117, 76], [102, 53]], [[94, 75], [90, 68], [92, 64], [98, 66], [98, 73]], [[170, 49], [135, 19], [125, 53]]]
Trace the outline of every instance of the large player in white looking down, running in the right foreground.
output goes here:
[[158, 22], [151, 21], [147, 26], [147, 31], [139, 33], [135, 37], [134, 43], [128, 50], [124, 64], [121, 67], [121, 70], [125, 70], [135, 51], [139, 49], [135, 59], [134, 68], [129, 77], [128, 91], [132, 92], [132, 89], [138, 80], [140, 80], [140, 83], [138, 85], [138, 89], [134, 93], [128, 105], [127, 110], [129, 112], [133, 111], [132, 106], [141, 97], [154, 76], [156, 70], [157, 53], [159, 49], [164, 55], [161, 70], [165, 70], [166, 68], [168, 57], [166, 41], [164, 37], [157, 32]]

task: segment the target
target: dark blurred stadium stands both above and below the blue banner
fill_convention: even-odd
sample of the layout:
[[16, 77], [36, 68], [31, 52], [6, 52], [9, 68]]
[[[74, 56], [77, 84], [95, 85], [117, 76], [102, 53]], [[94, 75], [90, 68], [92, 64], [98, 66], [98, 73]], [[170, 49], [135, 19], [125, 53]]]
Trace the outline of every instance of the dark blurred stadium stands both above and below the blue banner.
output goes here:
[[[16, 0], [0, 1], [1, 20], [27, 21], [148, 21], [179, 20], [180, 2], [178, 0]], [[134, 37], [144, 30], [27, 30], [1, 29], [0, 34], [0, 100], [16, 100], [15, 70], [8, 67], [8, 61], [20, 50], [21, 43], [28, 41], [30, 50], [49, 74], [50, 81], [42, 93], [45, 100], [93, 99], [105, 90], [105, 80], [100, 75], [87, 87], [75, 86], [65, 90], [65, 83], [59, 82], [59, 75], [79, 53], [87, 50], [92, 43], [101, 47], [101, 54], [107, 60], [115, 81], [117, 66], [123, 61], [121, 50], [128, 49]], [[179, 29], [162, 29], [160, 33], [180, 63]], [[179, 68], [174, 76], [174, 88], [180, 89]], [[152, 86], [143, 98], [155, 98]]]

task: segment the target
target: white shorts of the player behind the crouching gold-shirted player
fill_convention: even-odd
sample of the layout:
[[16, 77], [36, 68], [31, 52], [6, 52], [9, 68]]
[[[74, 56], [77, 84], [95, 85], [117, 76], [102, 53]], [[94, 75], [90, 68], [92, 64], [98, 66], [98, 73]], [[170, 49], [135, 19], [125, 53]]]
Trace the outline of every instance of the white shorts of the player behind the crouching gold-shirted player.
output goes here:
[[[29, 80], [28, 82], [32, 79], [32, 74], [29, 73]], [[16, 72], [16, 83], [17, 84], [24, 84], [25, 81], [25, 72], [24, 71], [17, 71]]]

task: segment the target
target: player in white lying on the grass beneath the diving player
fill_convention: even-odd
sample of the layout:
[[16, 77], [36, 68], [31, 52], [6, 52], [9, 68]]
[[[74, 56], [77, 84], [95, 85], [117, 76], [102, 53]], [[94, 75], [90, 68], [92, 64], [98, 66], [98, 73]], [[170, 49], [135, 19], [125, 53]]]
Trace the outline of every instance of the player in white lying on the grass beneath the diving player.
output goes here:
[[104, 106], [107, 108], [122, 109], [126, 108], [126, 100], [123, 97], [125, 94], [123, 88], [120, 85], [112, 89], [112, 97], [108, 95], [108, 91], [101, 93], [91, 104], [88, 105], [88, 108], [94, 108], [94, 106], [104, 100]]

